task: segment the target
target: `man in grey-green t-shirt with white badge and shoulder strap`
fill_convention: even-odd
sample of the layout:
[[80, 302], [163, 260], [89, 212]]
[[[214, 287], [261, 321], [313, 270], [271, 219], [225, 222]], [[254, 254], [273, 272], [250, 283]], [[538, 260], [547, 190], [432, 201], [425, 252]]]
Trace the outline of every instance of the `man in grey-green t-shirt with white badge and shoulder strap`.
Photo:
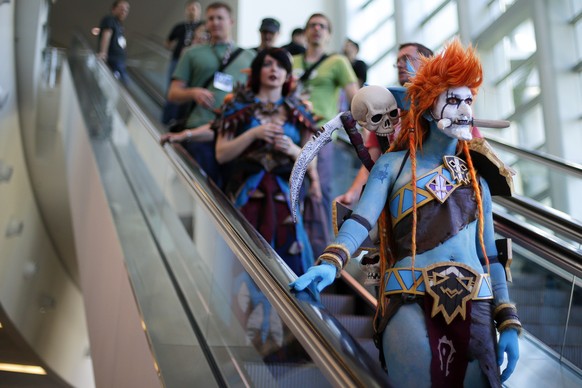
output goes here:
[[[246, 74], [255, 52], [237, 52], [232, 41], [234, 20], [228, 4], [215, 2], [206, 8], [206, 28], [210, 43], [192, 47], [184, 52], [172, 77], [168, 100], [176, 103], [193, 101], [196, 107], [190, 113], [183, 134], [189, 139], [184, 147], [215, 182], [219, 183], [218, 164], [214, 155], [214, 133], [209, 122], [213, 110], [220, 108], [224, 97], [237, 83], [246, 83]], [[230, 60], [230, 62], [229, 62]], [[228, 63], [228, 64], [227, 64]], [[227, 64], [222, 71], [219, 67]]]

